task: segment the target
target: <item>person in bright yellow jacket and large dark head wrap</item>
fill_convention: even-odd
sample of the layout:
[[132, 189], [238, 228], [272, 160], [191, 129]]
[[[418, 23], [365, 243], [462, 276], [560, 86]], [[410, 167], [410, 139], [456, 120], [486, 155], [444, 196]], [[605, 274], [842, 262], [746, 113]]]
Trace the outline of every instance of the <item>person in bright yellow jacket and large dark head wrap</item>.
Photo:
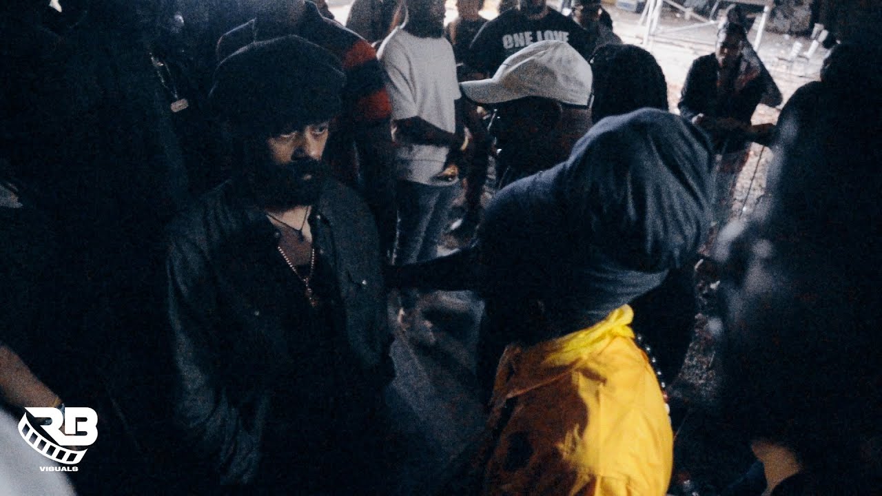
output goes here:
[[[497, 193], [479, 232], [484, 296], [510, 313], [478, 457], [486, 496], [662, 496], [667, 386], [628, 305], [697, 252], [713, 154], [656, 109], [596, 124], [553, 169]], [[492, 302], [492, 303], [491, 303]]]

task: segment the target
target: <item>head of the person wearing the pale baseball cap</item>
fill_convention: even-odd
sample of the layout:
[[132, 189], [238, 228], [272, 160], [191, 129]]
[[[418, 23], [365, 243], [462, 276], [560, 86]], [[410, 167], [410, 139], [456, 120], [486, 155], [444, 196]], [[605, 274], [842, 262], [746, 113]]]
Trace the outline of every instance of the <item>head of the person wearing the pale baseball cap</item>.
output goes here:
[[460, 84], [468, 100], [493, 110], [500, 187], [564, 161], [590, 125], [591, 84], [591, 66], [564, 41], [534, 43], [492, 78]]

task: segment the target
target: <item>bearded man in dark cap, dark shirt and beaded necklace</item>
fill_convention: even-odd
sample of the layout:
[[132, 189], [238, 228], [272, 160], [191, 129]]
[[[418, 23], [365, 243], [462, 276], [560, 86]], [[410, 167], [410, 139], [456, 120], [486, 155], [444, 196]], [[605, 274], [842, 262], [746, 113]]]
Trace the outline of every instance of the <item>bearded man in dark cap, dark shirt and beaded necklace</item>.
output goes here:
[[392, 378], [379, 240], [322, 160], [344, 84], [339, 60], [293, 35], [215, 72], [240, 168], [176, 218], [167, 255], [175, 421], [206, 492], [378, 491]]

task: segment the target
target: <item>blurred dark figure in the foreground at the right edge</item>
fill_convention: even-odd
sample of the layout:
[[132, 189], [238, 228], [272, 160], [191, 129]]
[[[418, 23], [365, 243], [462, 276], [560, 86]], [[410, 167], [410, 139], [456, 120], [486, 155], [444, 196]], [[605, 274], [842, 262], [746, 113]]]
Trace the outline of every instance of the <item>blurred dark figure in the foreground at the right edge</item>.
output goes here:
[[878, 494], [878, 46], [837, 47], [781, 111], [770, 200], [721, 234], [722, 411], [774, 496]]

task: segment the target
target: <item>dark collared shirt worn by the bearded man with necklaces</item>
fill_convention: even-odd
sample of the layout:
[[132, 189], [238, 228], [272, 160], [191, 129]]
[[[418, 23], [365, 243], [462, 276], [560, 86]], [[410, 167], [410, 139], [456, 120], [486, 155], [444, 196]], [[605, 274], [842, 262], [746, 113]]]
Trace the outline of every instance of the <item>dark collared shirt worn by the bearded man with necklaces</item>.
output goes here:
[[208, 193], [170, 228], [176, 422], [224, 485], [249, 483], [266, 443], [306, 442], [291, 438], [304, 415], [346, 424], [392, 378], [373, 219], [333, 180], [313, 211], [318, 310], [241, 182]]

